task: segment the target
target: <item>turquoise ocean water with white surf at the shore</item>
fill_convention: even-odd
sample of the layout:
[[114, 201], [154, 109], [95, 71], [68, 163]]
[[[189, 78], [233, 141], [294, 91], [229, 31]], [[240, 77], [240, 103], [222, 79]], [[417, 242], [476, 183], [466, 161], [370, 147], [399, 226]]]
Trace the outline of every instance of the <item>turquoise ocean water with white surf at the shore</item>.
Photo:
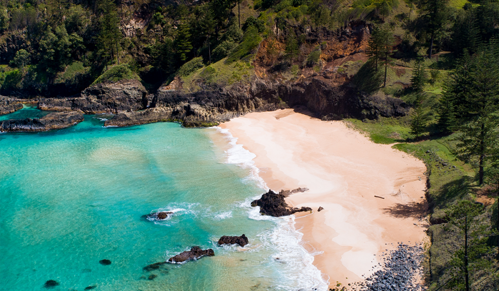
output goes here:
[[[293, 217], [250, 207], [266, 190], [253, 157], [218, 128], [105, 128], [102, 116], [0, 134], [0, 290], [325, 290]], [[160, 210], [174, 215], [143, 218]], [[245, 248], [217, 245], [243, 233]], [[143, 269], [195, 245], [215, 256]]]

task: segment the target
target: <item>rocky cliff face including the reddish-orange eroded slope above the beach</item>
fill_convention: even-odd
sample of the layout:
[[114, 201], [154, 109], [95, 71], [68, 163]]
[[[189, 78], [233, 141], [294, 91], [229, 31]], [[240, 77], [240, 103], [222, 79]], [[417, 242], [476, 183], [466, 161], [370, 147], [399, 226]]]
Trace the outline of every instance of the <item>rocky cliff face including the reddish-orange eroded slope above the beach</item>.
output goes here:
[[[298, 32], [307, 36], [298, 62], [305, 61], [306, 56], [319, 47], [321, 54], [315, 67], [304, 65], [294, 75], [274, 64], [264, 40], [254, 52], [254, 74], [250, 81], [231, 86], [203, 86], [200, 79], [196, 80], [201, 82], [198, 91], [193, 92], [177, 77], [154, 94], [148, 94], [138, 80], [121, 80], [90, 86], [78, 97], [41, 98], [38, 108], [85, 114], [114, 113], [114, 118], [105, 122], [106, 126], [158, 121], [178, 121], [187, 127], [213, 126], [254, 111], [296, 106], [305, 106], [312, 115], [323, 120], [407, 114], [409, 106], [401, 100], [358, 92], [350, 84], [352, 75], [338, 69], [347, 62], [367, 60], [364, 50], [370, 37], [369, 25], [352, 21], [337, 31], [316, 28]], [[283, 50], [284, 44], [277, 41], [275, 47]]]

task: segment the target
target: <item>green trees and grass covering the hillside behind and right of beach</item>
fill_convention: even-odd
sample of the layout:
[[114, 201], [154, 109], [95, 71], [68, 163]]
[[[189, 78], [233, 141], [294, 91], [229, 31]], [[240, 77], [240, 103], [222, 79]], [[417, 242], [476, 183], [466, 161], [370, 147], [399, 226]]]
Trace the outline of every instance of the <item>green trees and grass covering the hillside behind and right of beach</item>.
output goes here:
[[0, 0], [0, 93], [68, 96], [123, 78], [154, 90], [175, 76], [189, 90], [231, 85], [254, 75], [263, 43], [258, 65], [287, 81], [333, 60], [307, 31], [358, 19], [368, 59], [338, 73], [359, 96], [412, 109], [349, 121], [428, 166], [430, 290], [499, 290], [497, 199], [487, 205], [499, 191], [499, 0]]

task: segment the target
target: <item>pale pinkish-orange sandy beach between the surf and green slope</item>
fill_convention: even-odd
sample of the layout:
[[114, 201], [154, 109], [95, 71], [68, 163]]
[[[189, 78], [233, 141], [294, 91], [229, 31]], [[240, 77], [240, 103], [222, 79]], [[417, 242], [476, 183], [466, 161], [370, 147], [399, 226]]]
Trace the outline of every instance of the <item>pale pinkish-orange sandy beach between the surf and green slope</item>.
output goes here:
[[314, 209], [297, 215], [296, 229], [309, 252], [322, 252], [314, 265], [330, 288], [362, 281], [385, 250], [426, 236], [418, 221], [426, 206], [426, 167], [415, 157], [374, 144], [345, 122], [293, 109], [251, 113], [220, 127], [256, 155], [270, 189], [310, 189], [286, 201]]

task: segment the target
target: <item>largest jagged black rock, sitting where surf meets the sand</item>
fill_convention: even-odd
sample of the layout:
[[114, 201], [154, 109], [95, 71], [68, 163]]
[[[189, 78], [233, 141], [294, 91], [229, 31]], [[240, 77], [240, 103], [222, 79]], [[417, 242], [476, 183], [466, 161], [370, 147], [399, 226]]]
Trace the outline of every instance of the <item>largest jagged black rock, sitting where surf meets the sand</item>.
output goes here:
[[251, 202], [252, 207], [260, 206], [260, 213], [274, 217], [291, 215], [296, 212], [312, 211], [310, 207], [293, 208], [289, 207], [284, 201], [283, 194], [275, 194], [272, 190], [261, 195], [260, 199]]

